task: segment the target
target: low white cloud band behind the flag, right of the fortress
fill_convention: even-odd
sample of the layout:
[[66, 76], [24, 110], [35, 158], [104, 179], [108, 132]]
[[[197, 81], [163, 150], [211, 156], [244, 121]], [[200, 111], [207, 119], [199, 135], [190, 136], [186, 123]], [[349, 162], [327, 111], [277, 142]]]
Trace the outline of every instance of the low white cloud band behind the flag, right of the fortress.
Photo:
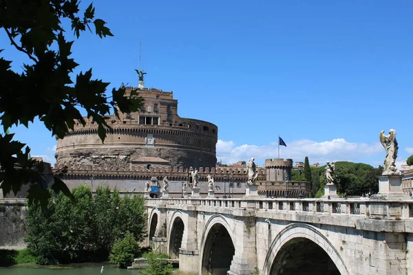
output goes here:
[[[374, 144], [352, 143], [343, 138], [337, 138], [326, 142], [314, 142], [311, 140], [295, 140], [288, 142], [287, 147], [280, 146], [280, 157], [292, 158], [294, 161], [303, 161], [308, 156], [311, 163], [326, 161], [355, 161], [361, 157], [370, 157], [383, 152], [379, 142]], [[222, 163], [233, 164], [240, 160], [255, 157], [257, 164], [264, 164], [265, 159], [276, 158], [278, 155], [278, 144], [257, 146], [243, 144], [236, 146], [232, 141], [218, 140], [217, 159]]]

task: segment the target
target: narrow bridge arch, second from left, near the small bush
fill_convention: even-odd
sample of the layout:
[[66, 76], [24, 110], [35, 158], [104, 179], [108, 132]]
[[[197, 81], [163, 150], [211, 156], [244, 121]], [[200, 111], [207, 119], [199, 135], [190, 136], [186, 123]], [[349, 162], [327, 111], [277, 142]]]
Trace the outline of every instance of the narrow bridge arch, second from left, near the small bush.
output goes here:
[[171, 259], [179, 259], [179, 249], [184, 236], [184, 217], [180, 210], [175, 210], [169, 220], [168, 254]]

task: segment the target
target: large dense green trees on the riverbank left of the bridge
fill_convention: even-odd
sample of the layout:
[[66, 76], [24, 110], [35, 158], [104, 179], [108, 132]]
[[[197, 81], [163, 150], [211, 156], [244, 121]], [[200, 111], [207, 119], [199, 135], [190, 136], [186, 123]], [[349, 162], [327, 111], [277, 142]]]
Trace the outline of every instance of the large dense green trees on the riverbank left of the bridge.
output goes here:
[[129, 233], [135, 241], [145, 236], [144, 199], [98, 187], [72, 190], [73, 199], [59, 193], [46, 208], [28, 208], [26, 243], [38, 263], [106, 261], [116, 238]]

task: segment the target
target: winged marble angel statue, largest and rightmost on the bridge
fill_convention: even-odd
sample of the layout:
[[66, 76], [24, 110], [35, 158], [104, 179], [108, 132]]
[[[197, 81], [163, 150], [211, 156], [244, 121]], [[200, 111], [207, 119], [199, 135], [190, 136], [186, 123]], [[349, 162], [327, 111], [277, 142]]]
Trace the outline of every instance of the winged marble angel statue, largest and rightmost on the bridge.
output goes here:
[[385, 135], [384, 131], [380, 133], [380, 142], [385, 148], [384, 169], [382, 175], [398, 175], [396, 165], [397, 146], [396, 130], [390, 129], [389, 135]]

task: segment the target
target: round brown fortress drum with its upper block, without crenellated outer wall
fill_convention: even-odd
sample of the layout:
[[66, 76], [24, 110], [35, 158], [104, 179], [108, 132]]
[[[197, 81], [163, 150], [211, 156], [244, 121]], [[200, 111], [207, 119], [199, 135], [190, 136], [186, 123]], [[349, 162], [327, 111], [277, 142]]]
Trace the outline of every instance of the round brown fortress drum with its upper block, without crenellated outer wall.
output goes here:
[[[132, 87], [127, 87], [126, 96]], [[110, 115], [105, 142], [98, 126], [85, 119], [74, 131], [57, 140], [56, 166], [71, 164], [156, 164], [159, 166], [214, 167], [218, 127], [202, 120], [180, 118], [173, 92], [138, 89], [145, 99], [140, 112]]]

